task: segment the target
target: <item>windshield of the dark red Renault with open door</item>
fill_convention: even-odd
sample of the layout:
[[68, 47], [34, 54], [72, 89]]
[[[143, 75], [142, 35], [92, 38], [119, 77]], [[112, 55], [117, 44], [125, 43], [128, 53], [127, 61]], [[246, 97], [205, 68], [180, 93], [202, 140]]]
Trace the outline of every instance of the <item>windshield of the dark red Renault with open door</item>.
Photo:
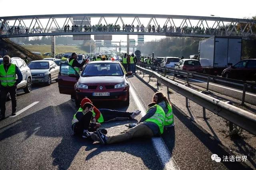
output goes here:
[[123, 76], [124, 72], [118, 63], [87, 64], [82, 76]]

